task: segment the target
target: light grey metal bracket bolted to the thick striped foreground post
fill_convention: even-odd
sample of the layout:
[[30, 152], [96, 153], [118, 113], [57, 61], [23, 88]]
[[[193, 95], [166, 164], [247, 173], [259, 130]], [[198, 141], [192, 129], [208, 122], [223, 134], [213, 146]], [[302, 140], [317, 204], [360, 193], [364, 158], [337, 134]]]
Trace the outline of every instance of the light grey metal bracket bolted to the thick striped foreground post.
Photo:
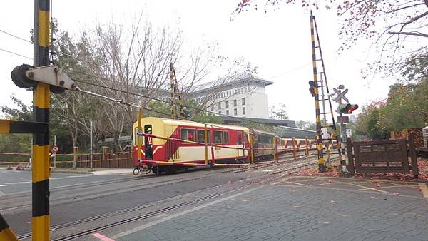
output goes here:
[[27, 78], [75, 91], [77, 86], [74, 81], [58, 66], [41, 66], [30, 68], [26, 71]]

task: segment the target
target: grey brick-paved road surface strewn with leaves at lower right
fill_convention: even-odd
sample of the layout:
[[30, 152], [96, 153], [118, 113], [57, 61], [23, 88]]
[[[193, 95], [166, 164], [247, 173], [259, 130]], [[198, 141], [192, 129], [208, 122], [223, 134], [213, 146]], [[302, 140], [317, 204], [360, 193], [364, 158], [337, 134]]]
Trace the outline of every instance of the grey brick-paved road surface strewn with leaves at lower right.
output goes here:
[[116, 240], [428, 240], [428, 201], [417, 183], [290, 178], [194, 211], [161, 215], [139, 229], [106, 235]]

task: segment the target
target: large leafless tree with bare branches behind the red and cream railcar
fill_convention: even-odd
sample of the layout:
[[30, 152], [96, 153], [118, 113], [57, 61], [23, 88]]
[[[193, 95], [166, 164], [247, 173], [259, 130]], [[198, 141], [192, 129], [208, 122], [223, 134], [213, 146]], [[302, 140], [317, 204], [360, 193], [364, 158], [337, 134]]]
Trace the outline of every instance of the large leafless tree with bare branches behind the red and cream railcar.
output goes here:
[[[143, 108], [147, 107], [151, 98], [165, 100], [168, 97], [165, 93], [168, 93], [170, 86], [170, 63], [176, 66], [184, 93], [211, 78], [210, 74], [219, 65], [223, 64], [225, 71], [223, 75], [219, 74], [221, 77], [215, 78], [215, 84], [238, 78], [245, 68], [250, 70], [250, 65], [243, 59], [230, 61], [215, 53], [212, 46], [186, 51], [182, 36], [180, 29], [158, 29], [143, 22], [140, 16], [131, 26], [111, 22], [96, 26], [94, 30], [83, 31], [78, 43], [65, 41], [62, 44], [64, 49], [58, 55], [60, 61], [66, 62], [63, 64], [65, 71], [76, 81], [88, 83], [78, 83], [87, 91]], [[66, 117], [74, 121], [69, 123], [73, 135], [78, 132], [76, 128], [87, 133], [89, 120], [93, 118], [101, 121], [96, 123], [97, 138], [112, 136], [116, 148], [120, 148], [118, 140], [122, 135], [130, 134], [131, 125], [136, 121], [136, 108], [100, 101], [91, 96], [76, 101], [76, 96], [70, 96], [58, 97], [58, 103], [67, 108], [76, 108], [76, 115]], [[64, 99], [61, 101], [61, 98]], [[71, 105], [70, 101], [73, 100]], [[203, 106], [202, 103], [200, 105]], [[66, 109], [62, 114], [68, 114]]]

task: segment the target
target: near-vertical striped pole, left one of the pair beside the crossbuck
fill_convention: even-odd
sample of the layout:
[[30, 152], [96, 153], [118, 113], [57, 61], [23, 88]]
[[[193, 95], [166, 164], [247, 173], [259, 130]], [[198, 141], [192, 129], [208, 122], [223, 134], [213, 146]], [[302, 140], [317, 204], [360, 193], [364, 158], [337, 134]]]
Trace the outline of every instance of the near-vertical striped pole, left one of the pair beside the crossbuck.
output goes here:
[[310, 12], [310, 39], [312, 42], [312, 66], [314, 73], [314, 94], [315, 94], [315, 116], [317, 124], [317, 152], [318, 152], [318, 171], [320, 173], [325, 171], [324, 157], [322, 153], [322, 133], [321, 133], [321, 116], [320, 116], [320, 96], [318, 95], [318, 73], [317, 73], [317, 58], [316, 58], [316, 49], [315, 49], [315, 34], [314, 34], [314, 21], [315, 16]]

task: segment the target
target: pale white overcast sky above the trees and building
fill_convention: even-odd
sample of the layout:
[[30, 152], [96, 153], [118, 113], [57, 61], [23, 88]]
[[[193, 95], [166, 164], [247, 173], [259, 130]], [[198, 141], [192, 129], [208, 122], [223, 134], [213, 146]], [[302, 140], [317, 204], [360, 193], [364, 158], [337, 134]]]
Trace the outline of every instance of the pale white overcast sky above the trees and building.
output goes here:
[[[274, 82], [266, 87], [269, 105], [285, 103], [290, 120], [314, 122], [315, 102], [307, 83], [312, 80], [309, 9], [280, 4], [278, 9], [267, 9], [267, 13], [248, 9], [230, 21], [230, 14], [237, 4], [237, 0], [53, 0], [52, 14], [58, 19], [59, 28], [69, 31], [71, 36], [78, 36], [82, 29], [92, 29], [96, 24], [108, 21], [126, 26], [134, 16], [143, 12], [154, 26], [183, 29], [185, 45], [216, 41], [223, 55], [244, 57], [253, 66], [258, 66], [257, 76]], [[2, 5], [0, 30], [29, 39], [29, 32], [34, 26], [34, 2], [15, 0]], [[342, 40], [337, 33], [342, 19], [334, 9], [320, 8], [314, 10], [314, 14], [330, 92], [343, 84], [349, 89], [347, 98], [350, 103], [360, 106], [386, 98], [392, 80], [380, 75], [363, 79], [360, 73], [368, 63], [379, 58], [378, 53], [370, 48], [370, 42], [360, 41], [349, 50], [340, 52]], [[30, 43], [1, 31], [2, 50], [32, 58]], [[0, 106], [13, 106], [9, 98], [11, 94], [31, 106], [32, 93], [16, 87], [10, 78], [15, 66], [32, 63], [31, 59], [22, 56], [0, 50], [0, 81], [3, 83]]]

